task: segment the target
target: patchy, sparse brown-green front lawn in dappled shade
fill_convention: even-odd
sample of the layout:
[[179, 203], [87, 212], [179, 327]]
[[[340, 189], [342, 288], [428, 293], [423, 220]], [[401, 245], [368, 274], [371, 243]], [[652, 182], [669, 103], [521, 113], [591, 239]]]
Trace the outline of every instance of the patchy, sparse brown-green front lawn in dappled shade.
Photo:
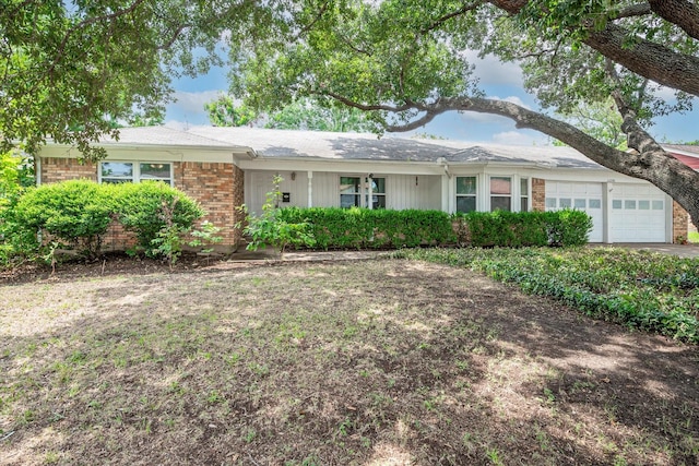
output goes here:
[[384, 259], [0, 286], [0, 464], [694, 465], [697, 347]]

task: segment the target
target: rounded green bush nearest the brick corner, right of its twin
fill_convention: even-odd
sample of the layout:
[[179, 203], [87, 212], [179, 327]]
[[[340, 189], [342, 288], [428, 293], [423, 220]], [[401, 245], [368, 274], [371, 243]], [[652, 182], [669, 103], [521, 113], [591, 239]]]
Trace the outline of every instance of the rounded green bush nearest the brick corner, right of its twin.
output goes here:
[[204, 215], [196, 201], [159, 181], [108, 188], [115, 196], [117, 219], [127, 231], [135, 235], [139, 247], [151, 255], [158, 255], [156, 243], [163, 238], [162, 231], [187, 232]]

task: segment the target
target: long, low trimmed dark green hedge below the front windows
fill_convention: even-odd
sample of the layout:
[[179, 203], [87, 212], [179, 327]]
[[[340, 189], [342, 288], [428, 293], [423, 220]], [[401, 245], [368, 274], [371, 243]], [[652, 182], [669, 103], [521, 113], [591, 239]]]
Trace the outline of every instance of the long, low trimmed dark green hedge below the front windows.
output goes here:
[[[286, 207], [279, 219], [307, 223], [318, 249], [387, 249], [420, 246], [578, 246], [588, 241], [592, 219], [584, 212], [389, 211]], [[301, 244], [310, 247], [311, 244]]]

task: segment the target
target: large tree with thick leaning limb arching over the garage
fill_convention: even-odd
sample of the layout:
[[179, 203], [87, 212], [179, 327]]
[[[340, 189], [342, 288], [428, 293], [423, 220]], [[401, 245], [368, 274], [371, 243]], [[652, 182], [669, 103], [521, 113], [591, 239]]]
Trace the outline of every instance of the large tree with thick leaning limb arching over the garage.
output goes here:
[[[647, 132], [653, 117], [684, 111], [699, 95], [699, 8], [684, 0], [304, 2], [295, 27], [233, 47], [233, 87], [256, 108], [299, 96], [371, 112], [388, 131], [419, 128], [446, 111], [477, 111], [538, 130], [673, 196], [699, 224], [699, 174]], [[245, 48], [245, 51], [244, 51]], [[466, 49], [522, 67], [542, 107], [568, 115], [614, 99], [633, 152], [561, 119], [486, 98]], [[677, 91], [660, 98], [660, 85]]]

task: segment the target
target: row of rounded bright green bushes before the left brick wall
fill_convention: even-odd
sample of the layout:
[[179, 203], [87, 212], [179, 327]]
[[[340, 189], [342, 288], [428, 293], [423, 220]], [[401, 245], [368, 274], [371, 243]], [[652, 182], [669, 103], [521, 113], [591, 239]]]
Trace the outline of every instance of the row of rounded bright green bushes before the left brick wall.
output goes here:
[[98, 184], [63, 181], [28, 190], [3, 215], [2, 234], [15, 253], [31, 254], [48, 241], [88, 255], [99, 253], [112, 222], [134, 234], [144, 251], [166, 227], [190, 228], [204, 215], [197, 202], [163, 182]]

